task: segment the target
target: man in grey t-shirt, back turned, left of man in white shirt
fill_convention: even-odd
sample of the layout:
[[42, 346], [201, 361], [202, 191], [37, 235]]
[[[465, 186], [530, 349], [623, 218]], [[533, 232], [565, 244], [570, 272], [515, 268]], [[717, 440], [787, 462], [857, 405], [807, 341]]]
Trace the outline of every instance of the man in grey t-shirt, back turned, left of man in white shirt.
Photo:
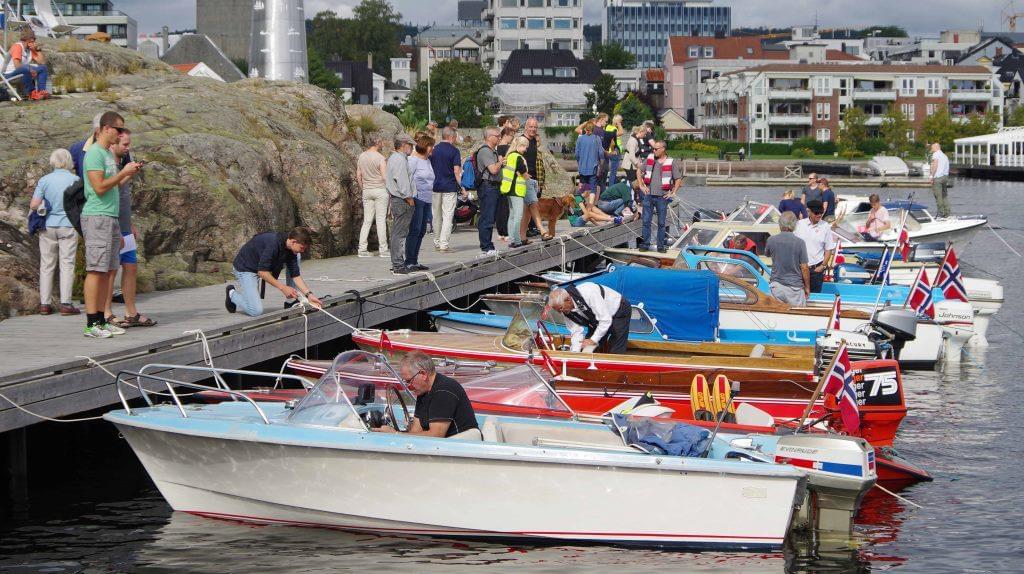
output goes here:
[[805, 307], [811, 294], [811, 274], [807, 265], [807, 245], [793, 234], [797, 223], [795, 213], [782, 212], [778, 218], [781, 233], [768, 237], [765, 255], [771, 258], [769, 286], [772, 296], [792, 307]]

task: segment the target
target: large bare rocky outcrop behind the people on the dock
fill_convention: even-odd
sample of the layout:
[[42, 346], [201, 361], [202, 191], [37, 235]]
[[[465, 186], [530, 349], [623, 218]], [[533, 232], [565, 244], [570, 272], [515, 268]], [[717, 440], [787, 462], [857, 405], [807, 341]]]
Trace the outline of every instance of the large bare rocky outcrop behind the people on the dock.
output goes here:
[[401, 129], [393, 116], [346, 108], [304, 84], [190, 78], [117, 46], [44, 46], [55, 78], [91, 75], [106, 89], [0, 103], [0, 312], [38, 303], [38, 248], [26, 221], [50, 151], [88, 136], [108, 109], [124, 116], [134, 156], [146, 162], [132, 191], [143, 289], [219, 282], [250, 236], [298, 224], [316, 232], [315, 257], [353, 251], [362, 209], [355, 158], [372, 133], [391, 141]]

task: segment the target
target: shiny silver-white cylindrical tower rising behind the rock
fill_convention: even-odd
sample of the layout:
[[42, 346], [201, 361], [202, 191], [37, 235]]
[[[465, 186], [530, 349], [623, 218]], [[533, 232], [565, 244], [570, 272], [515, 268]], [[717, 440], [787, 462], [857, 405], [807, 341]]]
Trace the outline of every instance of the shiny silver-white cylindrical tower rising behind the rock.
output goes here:
[[302, 0], [253, 0], [252, 34], [250, 78], [308, 80]]

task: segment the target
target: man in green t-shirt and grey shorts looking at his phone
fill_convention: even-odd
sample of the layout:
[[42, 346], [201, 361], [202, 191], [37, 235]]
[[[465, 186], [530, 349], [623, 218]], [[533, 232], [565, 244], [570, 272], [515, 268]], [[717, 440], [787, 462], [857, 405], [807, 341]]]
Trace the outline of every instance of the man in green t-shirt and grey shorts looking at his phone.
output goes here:
[[125, 330], [106, 323], [103, 305], [111, 297], [113, 277], [121, 260], [121, 227], [118, 225], [121, 207], [118, 185], [136, 173], [141, 164], [132, 162], [118, 171], [111, 152], [122, 132], [125, 121], [118, 113], [108, 112], [99, 119], [99, 132], [82, 161], [85, 173], [85, 206], [82, 208], [82, 235], [85, 237], [85, 316], [83, 335], [106, 339]]

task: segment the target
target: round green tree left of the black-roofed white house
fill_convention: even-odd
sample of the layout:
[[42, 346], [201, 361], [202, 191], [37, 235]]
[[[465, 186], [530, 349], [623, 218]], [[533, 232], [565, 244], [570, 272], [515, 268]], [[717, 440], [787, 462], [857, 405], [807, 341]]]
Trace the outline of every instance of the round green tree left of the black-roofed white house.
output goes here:
[[[445, 60], [430, 69], [430, 103], [438, 124], [458, 120], [464, 128], [478, 128], [487, 118], [490, 75], [478, 64]], [[409, 92], [406, 111], [414, 118], [427, 117], [427, 82]]]

